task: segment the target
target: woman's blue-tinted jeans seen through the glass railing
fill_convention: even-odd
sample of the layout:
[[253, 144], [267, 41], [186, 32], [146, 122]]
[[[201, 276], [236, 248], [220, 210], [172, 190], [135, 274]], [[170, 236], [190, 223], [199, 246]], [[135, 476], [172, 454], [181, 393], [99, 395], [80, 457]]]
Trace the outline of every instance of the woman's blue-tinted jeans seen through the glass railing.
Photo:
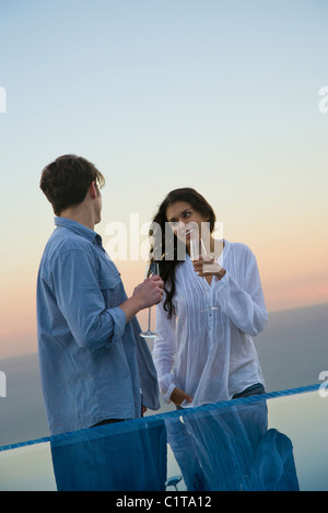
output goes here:
[[292, 443], [268, 430], [266, 400], [231, 403], [165, 421], [187, 490], [298, 491]]

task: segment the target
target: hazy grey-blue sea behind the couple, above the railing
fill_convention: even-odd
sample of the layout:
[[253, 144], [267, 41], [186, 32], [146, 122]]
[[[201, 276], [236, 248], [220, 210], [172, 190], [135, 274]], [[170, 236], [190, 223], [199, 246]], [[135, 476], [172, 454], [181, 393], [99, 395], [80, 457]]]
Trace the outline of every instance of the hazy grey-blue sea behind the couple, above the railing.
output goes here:
[[[328, 304], [271, 313], [255, 343], [267, 392], [319, 383], [320, 372], [328, 372]], [[0, 370], [7, 376], [0, 446], [48, 436], [37, 354], [4, 359]], [[156, 413], [171, 409], [162, 405]]]

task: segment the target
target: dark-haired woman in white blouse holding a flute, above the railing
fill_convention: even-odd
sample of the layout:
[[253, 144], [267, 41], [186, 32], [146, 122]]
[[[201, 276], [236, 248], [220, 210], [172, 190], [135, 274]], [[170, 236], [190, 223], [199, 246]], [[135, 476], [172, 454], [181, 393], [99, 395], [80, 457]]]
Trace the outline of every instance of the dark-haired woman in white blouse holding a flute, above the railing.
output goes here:
[[[213, 209], [190, 188], [171, 191], [153, 220], [153, 250], [160, 245], [165, 255], [153, 359], [161, 392], [177, 407], [265, 393], [251, 339], [268, 318], [257, 261], [244, 244], [219, 244], [214, 224]], [[190, 242], [199, 237], [209, 243], [210, 261], [190, 259]]]

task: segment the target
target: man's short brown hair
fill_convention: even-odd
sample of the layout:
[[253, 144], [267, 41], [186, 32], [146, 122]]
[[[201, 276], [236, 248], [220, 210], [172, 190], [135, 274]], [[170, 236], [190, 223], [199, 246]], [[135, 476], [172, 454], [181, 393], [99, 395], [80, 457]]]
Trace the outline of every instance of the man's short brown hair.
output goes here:
[[61, 155], [42, 172], [40, 189], [46, 195], [56, 215], [85, 198], [89, 186], [95, 183], [99, 189], [105, 178], [94, 164], [82, 156]]

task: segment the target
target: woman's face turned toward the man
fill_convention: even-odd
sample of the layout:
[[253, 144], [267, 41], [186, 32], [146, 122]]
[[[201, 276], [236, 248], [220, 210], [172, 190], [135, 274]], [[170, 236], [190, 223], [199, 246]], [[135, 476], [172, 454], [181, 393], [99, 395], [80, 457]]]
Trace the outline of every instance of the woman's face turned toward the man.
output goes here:
[[209, 219], [191, 207], [187, 201], [176, 201], [166, 209], [166, 219], [175, 235], [186, 245], [191, 238], [204, 237], [210, 232]]

